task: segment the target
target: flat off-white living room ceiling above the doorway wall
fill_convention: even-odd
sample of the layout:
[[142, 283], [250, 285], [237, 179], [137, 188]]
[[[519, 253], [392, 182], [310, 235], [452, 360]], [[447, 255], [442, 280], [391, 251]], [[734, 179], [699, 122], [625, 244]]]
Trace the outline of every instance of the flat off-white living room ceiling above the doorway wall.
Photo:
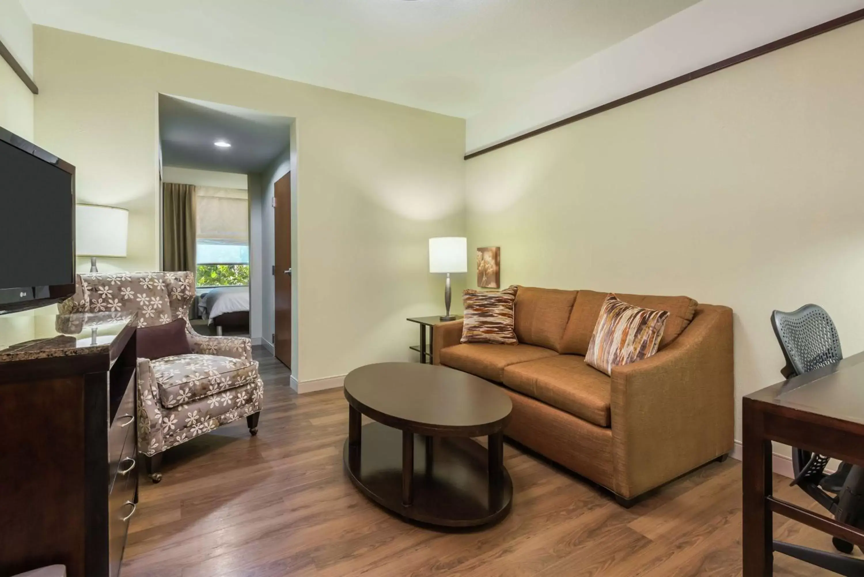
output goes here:
[[22, 0], [72, 30], [467, 118], [696, 0]]

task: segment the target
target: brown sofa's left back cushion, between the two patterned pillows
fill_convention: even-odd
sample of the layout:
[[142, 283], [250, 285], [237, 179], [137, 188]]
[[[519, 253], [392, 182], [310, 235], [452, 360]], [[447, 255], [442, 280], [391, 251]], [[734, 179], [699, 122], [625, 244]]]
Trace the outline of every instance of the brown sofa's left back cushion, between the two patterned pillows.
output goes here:
[[561, 338], [575, 299], [575, 291], [520, 286], [514, 326], [519, 343], [561, 352]]

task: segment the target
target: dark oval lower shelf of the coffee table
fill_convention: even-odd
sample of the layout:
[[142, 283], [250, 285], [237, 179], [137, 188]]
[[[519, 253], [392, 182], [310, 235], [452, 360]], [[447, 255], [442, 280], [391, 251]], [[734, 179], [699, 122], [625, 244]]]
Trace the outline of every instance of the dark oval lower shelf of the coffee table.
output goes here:
[[[397, 515], [442, 527], [495, 523], [510, 511], [513, 485], [504, 466], [490, 476], [486, 447], [462, 437], [414, 437], [410, 505], [403, 504], [403, 432], [372, 422], [359, 446], [345, 441], [348, 476], [366, 497]], [[431, 447], [431, 452], [428, 451]]]

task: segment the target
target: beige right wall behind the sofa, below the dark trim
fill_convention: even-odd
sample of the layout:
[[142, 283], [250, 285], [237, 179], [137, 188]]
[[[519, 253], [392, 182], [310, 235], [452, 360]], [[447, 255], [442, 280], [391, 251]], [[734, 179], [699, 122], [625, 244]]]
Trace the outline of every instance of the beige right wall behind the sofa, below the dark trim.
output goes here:
[[731, 306], [738, 397], [781, 379], [773, 309], [861, 351], [861, 54], [864, 22], [467, 161], [468, 246], [503, 285]]

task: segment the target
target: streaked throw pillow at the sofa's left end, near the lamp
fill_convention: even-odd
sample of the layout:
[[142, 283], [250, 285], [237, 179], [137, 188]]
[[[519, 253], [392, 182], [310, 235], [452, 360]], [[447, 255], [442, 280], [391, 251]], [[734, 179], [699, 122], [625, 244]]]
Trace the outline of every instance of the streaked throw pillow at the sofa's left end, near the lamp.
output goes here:
[[462, 324], [462, 343], [518, 344], [513, 331], [513, 305], [516, 304], [517, 286], [500, 292], [481, 292], [466, 289], [462, 292], [465, 321]]

